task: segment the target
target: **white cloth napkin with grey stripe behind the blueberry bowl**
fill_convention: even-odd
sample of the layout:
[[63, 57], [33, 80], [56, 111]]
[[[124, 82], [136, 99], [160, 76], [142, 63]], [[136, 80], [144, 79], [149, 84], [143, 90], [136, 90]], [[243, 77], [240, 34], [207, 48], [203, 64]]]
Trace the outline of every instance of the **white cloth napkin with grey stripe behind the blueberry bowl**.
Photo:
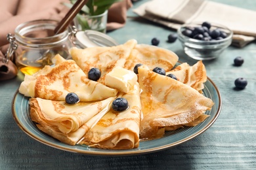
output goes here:
[[204, 0], [152, 0], [133, 12], [158, 24], [178, 29], [189, 22], [226, 25], [234, 32], [232, 44], [243, 47], [256, 37], [256, 12]]

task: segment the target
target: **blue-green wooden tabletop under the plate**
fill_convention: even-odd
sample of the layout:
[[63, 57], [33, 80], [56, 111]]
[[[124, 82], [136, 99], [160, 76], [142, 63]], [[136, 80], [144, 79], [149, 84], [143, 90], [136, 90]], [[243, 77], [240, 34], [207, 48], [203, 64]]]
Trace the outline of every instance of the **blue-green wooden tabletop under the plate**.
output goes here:
[[[215, 0], [256, 10], [256, 1]], [[132, 9], [145, 1], [137, 1]], [[174, 31], [139, 18], [129, 9], [127, 24], [108, 33], [119, 43], [137, 39], [175, 52], [190, 64], [179, 41], [167, 43]], [[255, 28], [256, 29], [256, 28]], [[242, 67], [234, 67], [236, 56], [244, 58]], [[203, 61], [207, 75], [221, 92], [223, 108], [217, 121], [207, 131], [179, 146], [136, 156], [89, 156], [58, 150], [35, 141], [12, 118], [11, 102], [24, 76], [0, 82], [0, 169], [256, 169], [256, 44], [244, 48], [228, 47], [221, 57]], [[234, 80], [244, 77], [248, 85], [234, 90]]]

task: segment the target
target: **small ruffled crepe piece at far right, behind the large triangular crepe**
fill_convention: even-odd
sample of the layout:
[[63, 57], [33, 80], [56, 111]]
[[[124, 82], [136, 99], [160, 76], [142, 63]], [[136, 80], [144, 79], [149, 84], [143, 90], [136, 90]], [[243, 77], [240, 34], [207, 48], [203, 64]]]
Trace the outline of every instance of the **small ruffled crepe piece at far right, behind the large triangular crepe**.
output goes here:
[[194, 65], [190, 66], [188, 63], [182, 63], [166, 72], [166, 75], [173, 74], [180, 82], [191, 86], [202, 93], [204, 88], [203, 83], [207, 80], [206, 69], [202, 61], [198, 61]]

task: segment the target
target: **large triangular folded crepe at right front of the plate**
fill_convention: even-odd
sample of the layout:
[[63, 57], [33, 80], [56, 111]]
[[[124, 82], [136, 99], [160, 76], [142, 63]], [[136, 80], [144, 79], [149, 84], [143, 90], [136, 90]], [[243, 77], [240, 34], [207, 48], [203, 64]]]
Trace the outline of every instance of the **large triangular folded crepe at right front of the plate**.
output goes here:
[[161, 137], [164, 127], [189, 124], [214, 104], [194, 88], [145, 67], [139, 67], [138, 76], [142, 90], [141, 138]]

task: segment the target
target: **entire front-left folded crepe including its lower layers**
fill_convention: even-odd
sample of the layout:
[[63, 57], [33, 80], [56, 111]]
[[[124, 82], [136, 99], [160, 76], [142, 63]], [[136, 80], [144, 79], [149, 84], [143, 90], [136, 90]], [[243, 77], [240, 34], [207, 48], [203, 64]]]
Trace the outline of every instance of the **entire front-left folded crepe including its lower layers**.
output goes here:
[[41, 131], [74, 145], [109, 110], [113, 100], [110, 97], [70, 105], [65, 101], [30, 98], [30, 117]]

